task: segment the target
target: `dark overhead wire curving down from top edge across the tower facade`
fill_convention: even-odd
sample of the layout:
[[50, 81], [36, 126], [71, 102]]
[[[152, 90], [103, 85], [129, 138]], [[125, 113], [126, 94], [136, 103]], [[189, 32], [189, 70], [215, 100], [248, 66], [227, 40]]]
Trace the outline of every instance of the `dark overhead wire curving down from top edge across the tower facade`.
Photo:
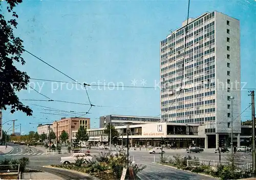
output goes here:
[[[188, 0], [188, 7], [187, 7], [187, 22], [186, 22], [186, 26], [185, 26], [185, 40], [184, 40], [184, 55], [183, 55], [183, 62], [182, 62], [182, 76], [181, 76], [181, 83], [180, 83], [180, 91], [179, 91], [179, 94], [176, 96], [176, 98], [174, 99], [173, 103], [168, 107], [168, 109], [165, 110], [165, 112], [167, 112], [171, 107], [172, 105], [174, 104], [174, 102], [176, 102], [176, 100], [178, 99], [178, 97], [180, 96], [181, 92], [182, 92], [182, 82], [183, 82], [183, 79], [184, 79], [184, 64], [185, 64], [185, 52], [186, 52], [186, 40], [187, 40], [187, 26], [188, 26], [188, 17], [189, 17], [189, 6], [190, 6], [190, 0]], [[161, 116], [158, 115], [158, 116]]]

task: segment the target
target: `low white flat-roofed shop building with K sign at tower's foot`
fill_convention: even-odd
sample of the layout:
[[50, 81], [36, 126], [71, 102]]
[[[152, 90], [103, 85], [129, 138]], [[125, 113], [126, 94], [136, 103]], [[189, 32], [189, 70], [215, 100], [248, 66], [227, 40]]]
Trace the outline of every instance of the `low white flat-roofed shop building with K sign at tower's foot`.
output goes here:
[[[130, 125], [127, 131], [126, 126], [115, 127], [120, 134], [119, 145], [126, 145], [127, 132], [129, 142], [135, 145], [159, 146], [161, 139], [165, 144], [172, 148], [186, 148], [194, 144], [205, 148], [205, 130], [202, 124], [184, 123], [148, 123]], [[72, 131], [72, 139], [75, 139], [76, 130]], [[100, 134], [104, 133], [104, 128], [88, 129], [89, 142], [91, 144], [100, 143]]]

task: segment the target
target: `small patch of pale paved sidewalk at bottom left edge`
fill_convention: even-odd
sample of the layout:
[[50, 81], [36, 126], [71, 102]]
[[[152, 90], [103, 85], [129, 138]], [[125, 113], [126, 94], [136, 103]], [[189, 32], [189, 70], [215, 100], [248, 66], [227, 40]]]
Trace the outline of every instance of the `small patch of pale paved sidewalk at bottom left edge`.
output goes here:
[[23, 174], [23, 179], [63, 179], [49, 172], [27, 172]]

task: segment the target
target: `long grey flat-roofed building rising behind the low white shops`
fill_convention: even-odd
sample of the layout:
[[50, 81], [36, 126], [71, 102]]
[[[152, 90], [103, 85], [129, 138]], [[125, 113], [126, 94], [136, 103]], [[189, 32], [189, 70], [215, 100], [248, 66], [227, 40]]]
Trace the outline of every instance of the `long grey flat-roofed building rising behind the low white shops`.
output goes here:
[[106, 124], [111, 124], [113, 126], [122, 126], [125, 125], [126, 122], [130, 122], [132, 124], [147, 124], [147, 123], [156, 123], [160, 122], [160, 118], [157, 117], [143, 117], [143, 116], [123, 116], [123, 115], [107, 115], [101, 116], [99, 127], [103, 128]]

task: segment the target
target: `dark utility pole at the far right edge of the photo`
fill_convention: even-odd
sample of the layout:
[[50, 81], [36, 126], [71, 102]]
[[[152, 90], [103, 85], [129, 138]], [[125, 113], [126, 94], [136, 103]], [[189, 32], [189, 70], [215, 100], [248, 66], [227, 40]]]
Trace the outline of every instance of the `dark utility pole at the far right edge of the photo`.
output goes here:
[[252, 119], [252, 170], [253, 177], [256, 171], [256, 156], [255, 156], [255, 105], [254, 105], [254, 91], [250, 92], [251, 96], [251, 119]]

